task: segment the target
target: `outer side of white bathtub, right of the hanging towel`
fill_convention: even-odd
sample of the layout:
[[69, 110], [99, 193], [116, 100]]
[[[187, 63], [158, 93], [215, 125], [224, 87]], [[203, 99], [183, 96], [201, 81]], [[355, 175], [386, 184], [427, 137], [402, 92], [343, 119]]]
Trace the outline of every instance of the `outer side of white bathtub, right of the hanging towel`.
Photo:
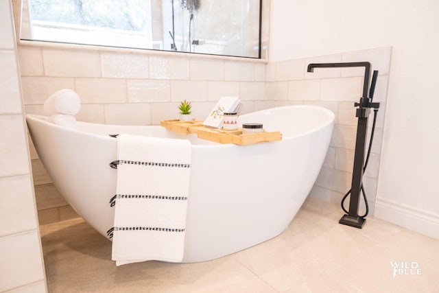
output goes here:
[[316, 181], [332, 129], [331, 121], [282, 141], [193, 152], [183, 262], [222, 257], [285, 231]]

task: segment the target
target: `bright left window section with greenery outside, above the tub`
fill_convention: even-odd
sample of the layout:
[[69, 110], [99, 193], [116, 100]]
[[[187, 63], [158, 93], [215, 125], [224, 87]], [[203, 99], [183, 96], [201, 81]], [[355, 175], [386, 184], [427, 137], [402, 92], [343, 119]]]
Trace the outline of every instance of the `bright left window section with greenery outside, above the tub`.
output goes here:
[[29, 0], [28, 3], [29, 39], [154, 48], [151, 21], [147, 21], [151, 20], [150, 1]]

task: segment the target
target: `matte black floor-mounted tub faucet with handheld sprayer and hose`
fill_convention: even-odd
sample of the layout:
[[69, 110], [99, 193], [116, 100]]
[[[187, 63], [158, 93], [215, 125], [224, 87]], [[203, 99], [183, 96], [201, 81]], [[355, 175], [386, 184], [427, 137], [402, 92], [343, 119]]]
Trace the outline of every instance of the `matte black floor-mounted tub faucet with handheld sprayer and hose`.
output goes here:
[[[355, 141], [355, 154], [354, 154], [354, 166], [352, 174], [351, 189], [344, 196], [342, 200], [342, 209], [346, 212], [345, 215], [340, 219], [339, 223], [353, 226], [355, 228], [362, 228], [366, 222], [366, 215], [368, 214], [368, 202], [366, 199], [366, 193], [364, 192], [364, 187], [362, 183], [362, 178], [364, 170], [369, 159], [370, 147], [372, 145], [373, 133], [375, 130], [375, 122], [377, 117], [377, 109], [379, 108], [379, 103], [373, 103], [372, 98], [375, 93], [375, 85], [377, 84], [378, 71], [374, 71], [372, 75], [372, 83], [369, 89], [370, 80], [370, 62], [342, 62], [342, 63], [311, 63], [308, 65], [307, 71], [313, 72], [315, 68], [331, 68], [331, 67], [364, 67], [364, 83], [363, 83], [363, 95], [359, 99], [359, 102], [355, 103], [354, 106], [357, 107], [355, 116], [358, 118], [357, 123], [357, 138]], [[369, 92], [369, 97], [368, 97]], [[370, 113], [370, 108], [375, 109], [374, 121], [372, 126], [372, 134], [370, 136], [368, 155], [364, 158], [364, 151], [366, 147], [366, 135], [368, 128], [368, 117]], [[359, 203], [360, 203], [360, 193], [363, 192], [364, 200], [366, 203], [366, 213], [364, 215], [359, 215]], [[344, 209], [343, 203], [346, 197], [351, 194], [351, 200], [349, 201], [349, 211]]]

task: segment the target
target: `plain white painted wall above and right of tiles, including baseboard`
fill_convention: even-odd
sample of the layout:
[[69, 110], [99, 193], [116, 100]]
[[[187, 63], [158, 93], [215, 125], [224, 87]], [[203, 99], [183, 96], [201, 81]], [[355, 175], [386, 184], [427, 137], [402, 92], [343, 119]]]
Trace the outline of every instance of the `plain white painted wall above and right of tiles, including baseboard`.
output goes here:
[[439, 1], [275, 0], [270, 62], [392, 46], [375, 216], [439, 238]]

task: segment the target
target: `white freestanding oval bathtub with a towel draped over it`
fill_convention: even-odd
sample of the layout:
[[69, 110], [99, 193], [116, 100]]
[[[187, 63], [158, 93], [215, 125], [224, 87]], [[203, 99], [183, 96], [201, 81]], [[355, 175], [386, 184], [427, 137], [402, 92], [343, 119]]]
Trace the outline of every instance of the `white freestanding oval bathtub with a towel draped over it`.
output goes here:
[[78, 130], [27, 115], [36, 151], [60, 194], [99, 233], [113, 226], [117, 139], [109, 134], [189, 139], [191, 181], [182, 262], [207, 261], [282, 233], [313, 186], [333, 130], [334, 114], [317, 106], [284, 106], [241, 115], [281, 141], [220, 144], [161, 126], [77, 122]]

